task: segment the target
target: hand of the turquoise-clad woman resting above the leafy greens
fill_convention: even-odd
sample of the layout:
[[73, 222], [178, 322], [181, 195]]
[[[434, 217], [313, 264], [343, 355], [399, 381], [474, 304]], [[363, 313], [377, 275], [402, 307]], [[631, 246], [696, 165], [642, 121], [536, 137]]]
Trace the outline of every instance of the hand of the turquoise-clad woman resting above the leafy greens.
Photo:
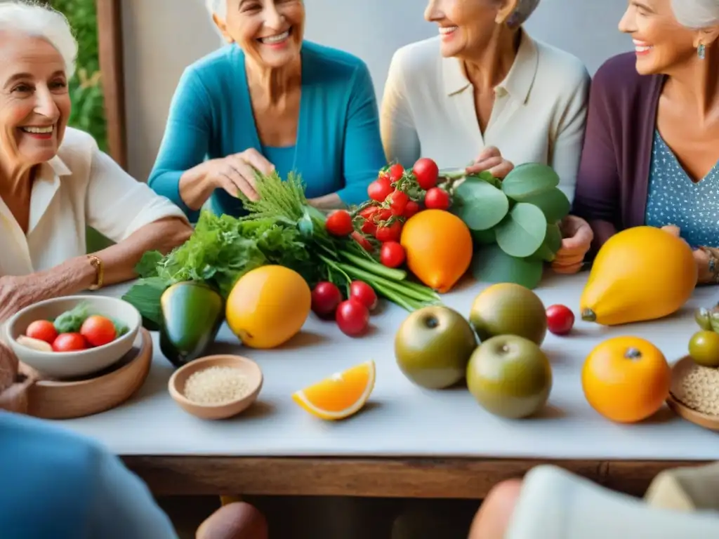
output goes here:
[[216, 188], [222, 188], [234, 197], [237, 197], [239, 191], [251, 201], [260, 200], [255, 188], [255, 170], [262, 174], [270, 174], [275, 170], [275, 165], [255, 148], [208, 161], [207, 166], [207, 178]]

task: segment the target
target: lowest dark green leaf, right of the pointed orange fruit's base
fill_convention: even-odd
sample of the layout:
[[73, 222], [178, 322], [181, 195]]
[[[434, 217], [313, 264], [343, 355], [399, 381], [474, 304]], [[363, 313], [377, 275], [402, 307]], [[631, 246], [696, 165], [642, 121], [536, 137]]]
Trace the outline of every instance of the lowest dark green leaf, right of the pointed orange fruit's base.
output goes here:
[[511, 257], [498, 245], [479, 249], [472, 258], [472, 275], [481, 282], [514, 282], [529, 289], [541, 282], [541, 260]]

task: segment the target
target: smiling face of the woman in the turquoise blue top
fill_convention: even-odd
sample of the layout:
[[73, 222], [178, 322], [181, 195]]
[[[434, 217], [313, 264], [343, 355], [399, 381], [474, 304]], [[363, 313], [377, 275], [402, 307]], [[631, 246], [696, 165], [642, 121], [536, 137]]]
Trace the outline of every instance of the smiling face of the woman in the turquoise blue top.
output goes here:
[[263, 65], [280, 68], [296, 60], [305, 26], [302, 0], [226, 0], [227, 17], [214, 17], [228, 42]]

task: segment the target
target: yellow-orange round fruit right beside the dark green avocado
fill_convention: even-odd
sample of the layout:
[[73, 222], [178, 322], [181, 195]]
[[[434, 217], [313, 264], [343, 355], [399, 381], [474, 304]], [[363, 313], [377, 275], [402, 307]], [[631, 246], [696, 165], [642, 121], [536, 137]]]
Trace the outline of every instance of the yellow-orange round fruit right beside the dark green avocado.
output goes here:
[[293, 338], [310, 313], [312, 292], [298, 272], [262, 266], [235, 283], [225, 307], [227, 326], [250, 348], [275, 348]]

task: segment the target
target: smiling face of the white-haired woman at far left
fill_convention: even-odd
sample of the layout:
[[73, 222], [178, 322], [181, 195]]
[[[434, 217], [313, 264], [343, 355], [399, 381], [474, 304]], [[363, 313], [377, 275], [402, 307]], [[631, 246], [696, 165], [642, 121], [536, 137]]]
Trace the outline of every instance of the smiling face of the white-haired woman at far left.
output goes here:
[[[0, 32], [0, 150], [13, 165], [52, 159], [70, 116], [65, 63], [42, 37]], [[10, 164], [10, 163], [9, 163]]]

